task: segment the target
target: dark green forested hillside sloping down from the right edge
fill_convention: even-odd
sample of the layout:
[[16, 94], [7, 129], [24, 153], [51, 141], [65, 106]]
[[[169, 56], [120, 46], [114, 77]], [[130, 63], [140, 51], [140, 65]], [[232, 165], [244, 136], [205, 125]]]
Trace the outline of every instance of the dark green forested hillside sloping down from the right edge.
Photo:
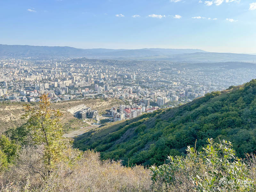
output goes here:
[[199, 151], [207, 138], [229, 140], [237, 155], [256, 150], [256, 79], [222, 92], [212, 92], [178, 108], [157, 110], [108, 124], [77, 137], [74, 146], [96, 148], [102, 159], [129, 164], [164, 164], [168, 155]]

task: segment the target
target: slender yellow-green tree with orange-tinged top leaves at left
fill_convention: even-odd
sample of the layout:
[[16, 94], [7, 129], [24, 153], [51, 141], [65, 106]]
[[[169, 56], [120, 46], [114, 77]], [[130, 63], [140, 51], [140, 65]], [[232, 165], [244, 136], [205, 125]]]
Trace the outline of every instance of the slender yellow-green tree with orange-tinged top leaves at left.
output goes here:
[[25, 129], [29, 134], [30, 142], [34, 145], [44, 146], [43, 159], [45, 164], [52, 166], [60, 161], [65, 142], [62, 125], [60, 124], [59, 110], [50, 107], [51, 102], [47, 94], [40, 97], [39, 108], [32, 108], [26, 105], [26, 113], [23, 118], [28, 118]]

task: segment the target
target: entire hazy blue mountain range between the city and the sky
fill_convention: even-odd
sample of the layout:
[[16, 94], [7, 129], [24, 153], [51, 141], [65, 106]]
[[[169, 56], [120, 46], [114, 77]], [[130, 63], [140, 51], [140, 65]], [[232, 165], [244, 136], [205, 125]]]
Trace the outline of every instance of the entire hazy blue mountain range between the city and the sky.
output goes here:
[[185, 62], [256, 61], [256, 55], [206, 52], [200, 49], [77, 49], [74, 47], [49, 47], [0, 44], [0, 57], [87, 57], [116, 60], [165, 60]]

